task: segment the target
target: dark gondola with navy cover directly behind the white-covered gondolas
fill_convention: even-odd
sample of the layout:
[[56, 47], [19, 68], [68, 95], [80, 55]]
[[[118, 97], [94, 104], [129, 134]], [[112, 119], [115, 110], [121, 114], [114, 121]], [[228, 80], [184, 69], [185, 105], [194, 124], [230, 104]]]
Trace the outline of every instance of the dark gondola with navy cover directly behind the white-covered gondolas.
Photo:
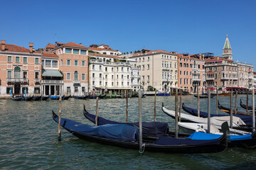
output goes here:
[[[183, 111], [186, 111], [187, 113], [194, 115], [194, 116], [198, 116], [198, 110], [194, 109], [194, 108], [188, 108], [187, 106], [185, 106], [184, 103], [182, 103], [182, 108]], [[200, 117], [202, 118], [208, 118], [208, 113], [200, 111], [199, 112]], [[227, 116], [227, 115], [215, 115], [215, 114], [210, 114], [210, 118], [212, 117], [223, 117], [223, 116]], [[240, 127], [233, 127], [235, 129], [238, 130], [245, 130], [247, 132], [252, 132], [252, 117], [248, 116], [248, 115], [238, 115], [238, 114], [233, 114], [234, 117], [240, 118], [246, 125], [240, 125]]]

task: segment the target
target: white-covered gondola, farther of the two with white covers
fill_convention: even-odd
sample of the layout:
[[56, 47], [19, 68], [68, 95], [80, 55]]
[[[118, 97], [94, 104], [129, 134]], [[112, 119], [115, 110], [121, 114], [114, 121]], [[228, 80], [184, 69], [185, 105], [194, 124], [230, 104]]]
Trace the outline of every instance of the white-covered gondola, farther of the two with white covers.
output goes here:
[[[175, 118], [175, 111], [171, 111], [167, 108], [164, 108], [164, 103], [162, 103], [162, 111], [166, 113], [166, 115], [169, 115], [171, 118]], [[178, 114], [179, 115], [179, 114]], [[208, 123], [208, 118], [201, 118], [197, 117], [195, 115], [188, 115], [185, 113], [181, 113], [181, 118], [189, 120], [191, 123]], [[230, 116], [221, 116], [221, 117], [211, 117], [210, 118], [210, 125], [214, 125], [219, 130], [221, 129], [221, 125], [224, 122], [228, 122], [228, 125], [230, 125]], [[233, 129], [230, 128], [230, 133], [232, 134], [238, 134], [238, 135], [245, 135], [248, 132], [239, 130], [242, 126], [244, 126], [245, 123], [237, 117], [233, 117]], [[237, 129], [235, 129], [237, 128]]]

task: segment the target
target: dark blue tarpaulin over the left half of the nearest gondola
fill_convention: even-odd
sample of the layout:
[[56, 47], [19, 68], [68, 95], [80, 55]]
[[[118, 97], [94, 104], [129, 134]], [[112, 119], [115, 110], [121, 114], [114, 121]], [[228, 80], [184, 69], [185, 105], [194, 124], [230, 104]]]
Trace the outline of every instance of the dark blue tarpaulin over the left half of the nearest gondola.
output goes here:
[[[58, 118], [55, 118], [58, 123]], [[61, 118], [61, 126], [75, 132], [80, 132], [86, 135], [97, 137], [105, 137], [111, 140], [118, 141], [137, 141], [139, 140], [139, 130], [133, 126], [126, 124], [114, 125], [85, 125], [73, 120]]]

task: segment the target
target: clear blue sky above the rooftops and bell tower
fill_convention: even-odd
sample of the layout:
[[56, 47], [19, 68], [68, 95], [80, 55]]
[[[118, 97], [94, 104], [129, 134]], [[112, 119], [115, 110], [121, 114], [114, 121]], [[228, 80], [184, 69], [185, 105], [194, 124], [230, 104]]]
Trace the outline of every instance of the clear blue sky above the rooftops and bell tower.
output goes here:
[[222, 55], [256, 67], [256, 1], [2, 1], [0, 39], [28, 47], [48, 42], [107, 44], [114, 50]]

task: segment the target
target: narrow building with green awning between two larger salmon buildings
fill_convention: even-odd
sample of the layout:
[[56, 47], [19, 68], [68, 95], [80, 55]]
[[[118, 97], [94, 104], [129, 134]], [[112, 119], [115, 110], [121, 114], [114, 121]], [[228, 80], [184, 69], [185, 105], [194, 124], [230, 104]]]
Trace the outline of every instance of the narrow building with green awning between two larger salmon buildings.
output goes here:
[[59, 72], [59, 57], [52, 53], [42, 53], [42, 55], [42, 94], [43, 96], [60, 95], [60, 92], [63, 93], [63, 74]]

